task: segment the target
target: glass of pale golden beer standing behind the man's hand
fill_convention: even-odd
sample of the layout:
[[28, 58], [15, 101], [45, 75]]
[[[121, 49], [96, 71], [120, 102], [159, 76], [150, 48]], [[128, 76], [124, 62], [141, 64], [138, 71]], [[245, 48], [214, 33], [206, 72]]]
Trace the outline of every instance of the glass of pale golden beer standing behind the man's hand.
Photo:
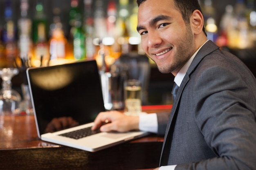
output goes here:
[[128, 79], [124, 82], [124, 113], [137, 116], [141, 113], [141, 82]]

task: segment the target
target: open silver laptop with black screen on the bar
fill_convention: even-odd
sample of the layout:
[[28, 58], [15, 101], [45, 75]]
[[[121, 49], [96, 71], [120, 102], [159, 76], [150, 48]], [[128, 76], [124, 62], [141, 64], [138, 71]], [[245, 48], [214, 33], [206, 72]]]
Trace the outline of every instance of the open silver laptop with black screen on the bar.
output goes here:
[[[98, 113], [105, 111], [95, 60], [28, 68], [27, 79], [38, 137], [43, 141], [95, 152], [148, 135], [90, 130]], [[90, 135], [83, 134], [86, 129]]]

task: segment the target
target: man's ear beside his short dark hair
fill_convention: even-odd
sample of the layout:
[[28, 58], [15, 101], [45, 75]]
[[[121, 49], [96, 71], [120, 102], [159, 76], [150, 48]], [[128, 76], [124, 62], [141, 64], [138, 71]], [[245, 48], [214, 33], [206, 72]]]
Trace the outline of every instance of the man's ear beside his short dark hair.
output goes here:
[[190, 23], [191, 29], [195, 35], [198, 35], [202, 32], [204, 27], [204, 17], [198, 9], [193, 11], [190, 18]]

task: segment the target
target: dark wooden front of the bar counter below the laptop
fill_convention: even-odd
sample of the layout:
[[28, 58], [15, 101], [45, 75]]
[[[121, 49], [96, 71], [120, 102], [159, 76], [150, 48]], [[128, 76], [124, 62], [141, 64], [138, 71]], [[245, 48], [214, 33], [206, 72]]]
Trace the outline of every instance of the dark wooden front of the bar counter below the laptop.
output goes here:
[[0, 151], [2, 170], [135, 170], [158, 166], [161, 142], [127, 142], [98, 152], [60, 146]]

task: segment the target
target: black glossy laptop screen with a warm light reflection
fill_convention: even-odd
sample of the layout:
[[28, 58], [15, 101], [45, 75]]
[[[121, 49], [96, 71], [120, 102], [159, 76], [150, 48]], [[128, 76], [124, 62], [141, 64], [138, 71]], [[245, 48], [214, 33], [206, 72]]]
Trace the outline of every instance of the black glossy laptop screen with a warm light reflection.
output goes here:
[[27, 77], [40, 135], [54, 118], [81, 125], [105, 111], [95, 60], [29, 68]]

